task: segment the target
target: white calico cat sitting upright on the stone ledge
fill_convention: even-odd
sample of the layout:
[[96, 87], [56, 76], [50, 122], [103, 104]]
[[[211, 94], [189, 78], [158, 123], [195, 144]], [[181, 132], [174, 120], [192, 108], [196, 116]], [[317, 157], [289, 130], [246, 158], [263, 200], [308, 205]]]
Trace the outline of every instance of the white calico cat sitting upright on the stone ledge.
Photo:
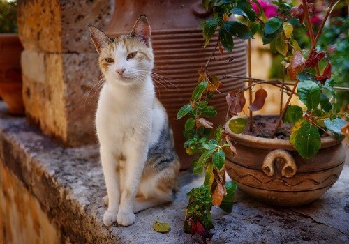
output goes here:
[[154, 54], [147, 17], [140, 16], [129, 35], [116, 38], [94, 26], [89, 30], [105, 76], [96, 111], [107, 188], [103, 222], [128, 226], [135, 213], [173, 201], [179, 158], [151, 79]]

